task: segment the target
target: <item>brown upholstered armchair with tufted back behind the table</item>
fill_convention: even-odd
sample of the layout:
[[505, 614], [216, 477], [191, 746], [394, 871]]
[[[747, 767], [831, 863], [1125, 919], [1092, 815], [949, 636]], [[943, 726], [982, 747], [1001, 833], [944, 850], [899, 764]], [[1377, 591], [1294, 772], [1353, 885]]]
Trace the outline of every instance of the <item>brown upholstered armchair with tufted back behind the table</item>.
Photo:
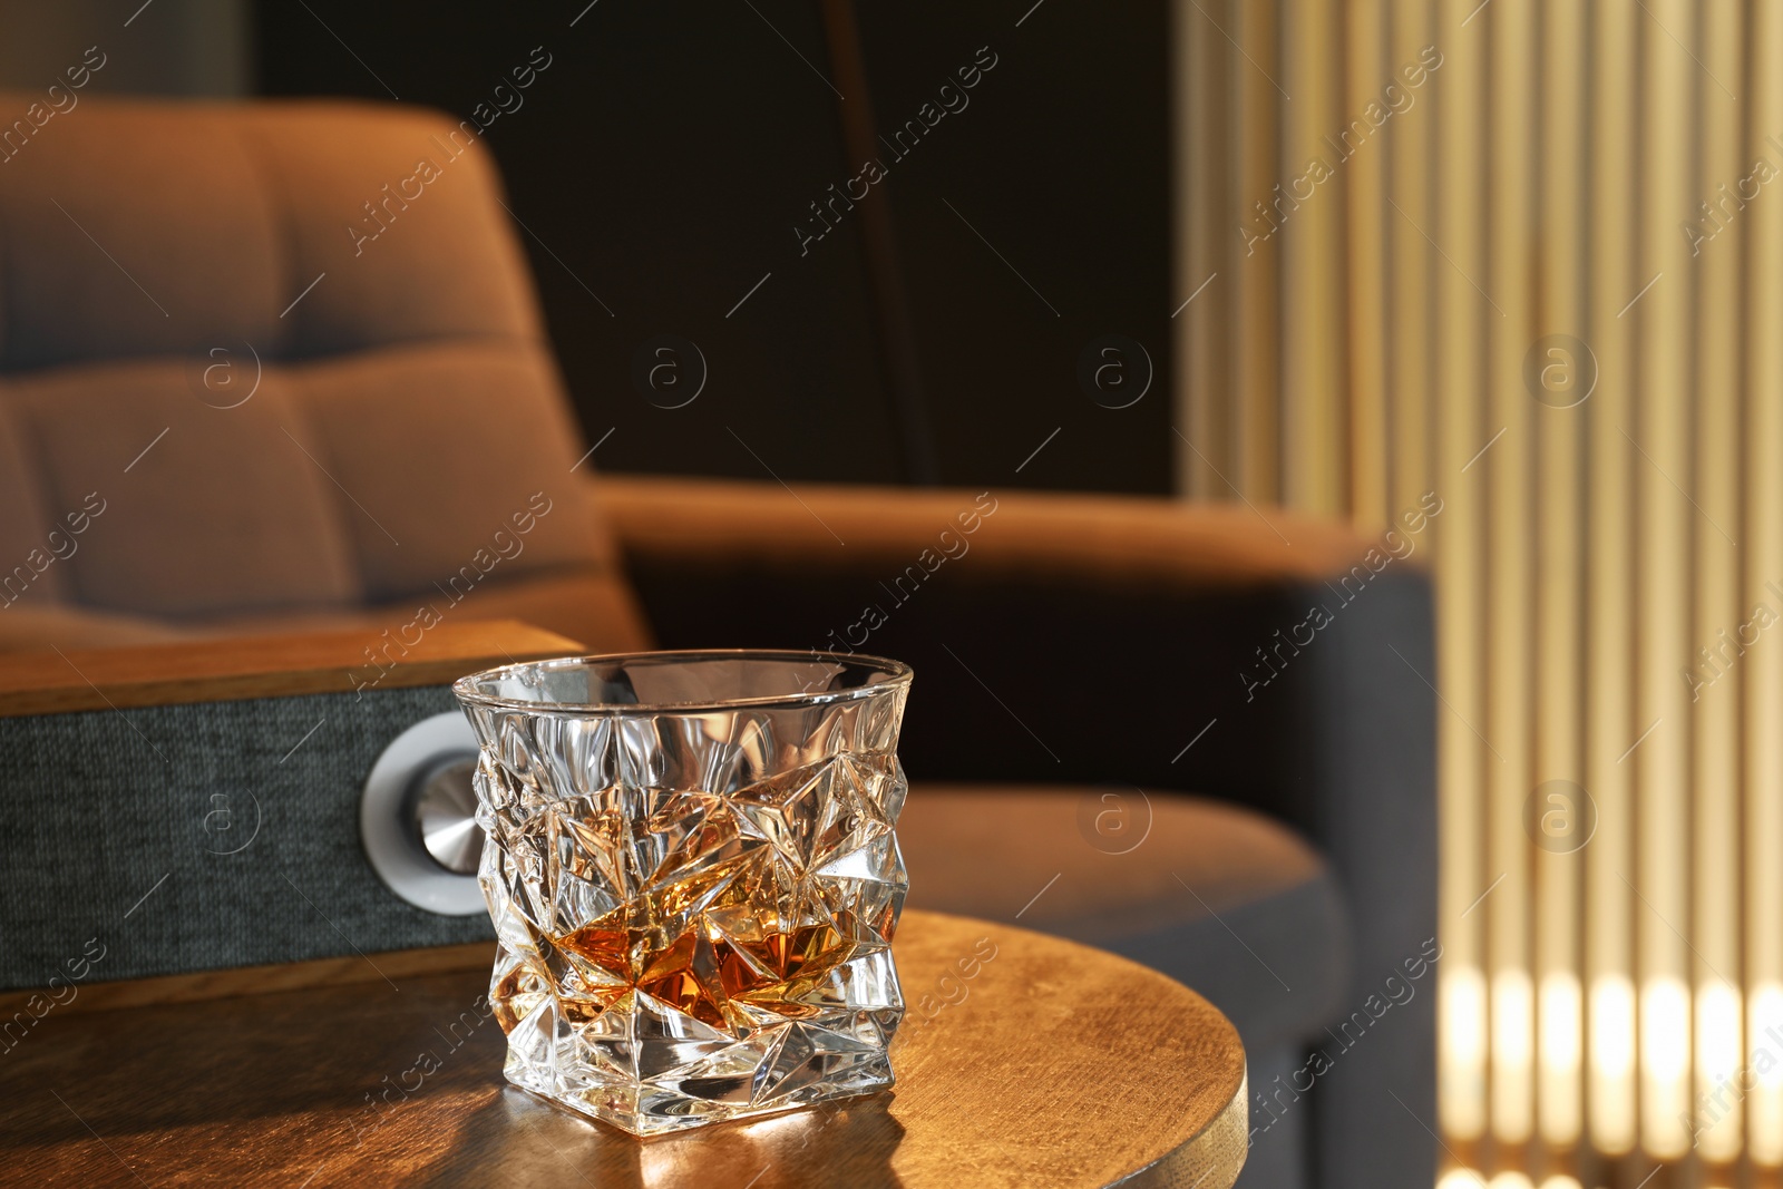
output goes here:
[[1241, 1184], [1430, 1184], [1421, 529], [597, 476], [487, 150], [399, 107], [87, 100], [0, 164], [0, 647], [508, 617], [902, 658], [909, 904], [1212, 998]]

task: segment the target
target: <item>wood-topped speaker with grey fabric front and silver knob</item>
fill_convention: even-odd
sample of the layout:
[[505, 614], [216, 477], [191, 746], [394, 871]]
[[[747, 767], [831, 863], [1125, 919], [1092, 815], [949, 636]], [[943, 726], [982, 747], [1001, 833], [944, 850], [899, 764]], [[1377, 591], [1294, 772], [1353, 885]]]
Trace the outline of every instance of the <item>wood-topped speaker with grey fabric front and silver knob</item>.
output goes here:
[[442, 622], [0, 658], [0, 989], [494, 938], [449, 686], [581, 651]]

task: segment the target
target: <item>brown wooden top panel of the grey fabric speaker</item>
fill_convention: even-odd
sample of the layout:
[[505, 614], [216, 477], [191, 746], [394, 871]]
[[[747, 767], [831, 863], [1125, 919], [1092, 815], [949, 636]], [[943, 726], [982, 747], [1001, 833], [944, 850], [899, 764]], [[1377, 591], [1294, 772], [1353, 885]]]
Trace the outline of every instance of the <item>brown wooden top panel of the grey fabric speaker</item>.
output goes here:
[[417, 635], [412, 645], [392, 633], [326, 631], [5, 654], [0, 718], [446, 685], [494, 665], [583, 651], [515, 620], [439, 624]]

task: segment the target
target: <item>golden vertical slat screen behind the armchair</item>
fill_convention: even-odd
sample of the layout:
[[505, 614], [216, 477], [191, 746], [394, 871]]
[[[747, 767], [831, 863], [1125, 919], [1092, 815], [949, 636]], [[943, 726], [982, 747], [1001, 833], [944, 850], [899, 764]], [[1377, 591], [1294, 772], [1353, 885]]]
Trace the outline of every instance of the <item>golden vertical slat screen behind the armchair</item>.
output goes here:
[[1444, 503], [1432, 1123], [1783, 1184], [1783, 4], [1173, 21], [1184, 494]]

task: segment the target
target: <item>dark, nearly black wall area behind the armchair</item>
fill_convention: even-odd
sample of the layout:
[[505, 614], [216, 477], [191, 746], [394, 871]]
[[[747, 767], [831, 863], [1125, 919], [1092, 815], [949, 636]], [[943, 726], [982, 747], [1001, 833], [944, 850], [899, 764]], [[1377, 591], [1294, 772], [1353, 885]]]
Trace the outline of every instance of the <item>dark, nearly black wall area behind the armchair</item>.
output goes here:
[[[266, 94], [512, 109], [485, 135], [597, 465], [1171, 488], [1163, 0], [262, 0], [253, 18]], [[975, 59], [995, 66], [965, 91]], [[956, 111], [920, 139], [879, 141], [941, 98]], [[868, 153], [884, 180], [804, 242]], [[1111, 408], [1146, 358], [1150, 389]]]

